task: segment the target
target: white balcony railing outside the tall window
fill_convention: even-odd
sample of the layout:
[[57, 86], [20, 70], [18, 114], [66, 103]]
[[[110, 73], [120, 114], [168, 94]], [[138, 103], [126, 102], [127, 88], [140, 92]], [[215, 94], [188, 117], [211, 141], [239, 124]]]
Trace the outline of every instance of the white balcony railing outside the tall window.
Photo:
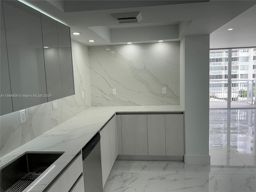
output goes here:
[[[247, 102], [253, 104], [255, 90], [253, 80], [232, 79], [231, 101]], [[210, 101], [222, 102], [228, 100], [228, 80], [210, 80], [209, 88]]]

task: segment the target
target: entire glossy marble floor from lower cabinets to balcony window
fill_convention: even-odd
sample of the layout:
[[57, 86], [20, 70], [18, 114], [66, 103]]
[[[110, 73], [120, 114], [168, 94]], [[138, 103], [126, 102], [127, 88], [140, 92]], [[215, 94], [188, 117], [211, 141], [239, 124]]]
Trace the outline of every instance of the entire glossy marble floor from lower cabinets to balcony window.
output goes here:
[[210, 110], [211, 165], [116, 160], [105, 192], [255, 192], [256, 109]]

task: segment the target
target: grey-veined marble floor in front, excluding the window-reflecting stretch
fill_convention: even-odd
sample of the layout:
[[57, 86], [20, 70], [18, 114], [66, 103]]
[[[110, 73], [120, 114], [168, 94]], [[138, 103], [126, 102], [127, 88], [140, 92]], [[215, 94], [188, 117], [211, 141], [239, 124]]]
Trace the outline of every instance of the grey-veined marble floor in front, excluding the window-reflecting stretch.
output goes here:
[[255, 168], [117, 160], [105, 192], [255, 192]]

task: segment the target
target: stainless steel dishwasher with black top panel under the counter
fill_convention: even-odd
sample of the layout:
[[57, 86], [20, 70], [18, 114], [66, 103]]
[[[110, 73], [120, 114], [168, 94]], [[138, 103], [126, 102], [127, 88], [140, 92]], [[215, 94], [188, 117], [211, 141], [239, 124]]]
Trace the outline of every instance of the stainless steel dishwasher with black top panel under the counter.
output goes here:
[[99, 133], [82, 148], [82, 156], [85, 191], [103, 192]]

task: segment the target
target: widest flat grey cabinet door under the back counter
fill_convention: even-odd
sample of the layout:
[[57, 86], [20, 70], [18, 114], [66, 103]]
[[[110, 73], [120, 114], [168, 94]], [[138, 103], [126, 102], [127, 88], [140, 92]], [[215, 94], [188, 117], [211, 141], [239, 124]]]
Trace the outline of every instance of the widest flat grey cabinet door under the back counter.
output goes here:
[[147, 115], [121, 115], [123, 155], [148, 155]]

